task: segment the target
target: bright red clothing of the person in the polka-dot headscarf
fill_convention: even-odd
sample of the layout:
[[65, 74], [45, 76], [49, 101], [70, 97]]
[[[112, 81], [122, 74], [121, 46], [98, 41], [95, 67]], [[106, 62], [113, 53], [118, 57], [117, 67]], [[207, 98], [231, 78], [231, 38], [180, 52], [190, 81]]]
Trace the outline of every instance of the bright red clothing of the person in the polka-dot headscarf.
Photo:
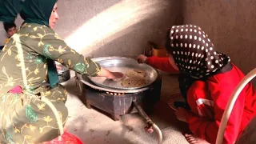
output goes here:
[[[171, 65], [167, 70], [167, 62], [164, 58], [148, 59], [149, 64], [159, 70], [168, 72], [174, 70]], [[192, 113], [186, 114], [186, 122], [189, 124], [191, 132], [210, 143], [215, 143], [226, 104], [235, 87], [245, 76], [238, 67], [233, 64], [232, 66], [232, 70], [224, 74], [215, 74], [206, 82], [194, 82], [187, 92], [187, 102]], [[238, 134], [244, 130], [250, 119], [256, 114], [255, 102], [256, 90], [251, 83], [248, 83], [234, 104], [223, 143], [234, 143]]]

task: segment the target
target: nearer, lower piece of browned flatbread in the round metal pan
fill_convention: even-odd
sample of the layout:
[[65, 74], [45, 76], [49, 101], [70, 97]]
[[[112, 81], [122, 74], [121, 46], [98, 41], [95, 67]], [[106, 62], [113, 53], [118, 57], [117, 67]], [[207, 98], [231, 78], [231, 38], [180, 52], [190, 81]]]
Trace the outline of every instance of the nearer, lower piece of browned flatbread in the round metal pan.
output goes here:
[[146, 86], [146, 80], [144, 78], [126, 78], [121, 82], [123, 87], [142, 87]]

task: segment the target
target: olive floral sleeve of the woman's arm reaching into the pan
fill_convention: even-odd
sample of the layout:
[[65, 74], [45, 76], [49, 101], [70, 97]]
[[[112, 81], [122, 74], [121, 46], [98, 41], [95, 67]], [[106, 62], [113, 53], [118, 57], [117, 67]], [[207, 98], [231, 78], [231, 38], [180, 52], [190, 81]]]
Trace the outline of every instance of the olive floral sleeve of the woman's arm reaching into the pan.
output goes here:
[[100, 71], [100, 66], [96, 62], [71, 49], [49, 27], [38, 26], [34, 27], [33, 30], [30, 38], [33, 39], [33, 48], [38, 54], [53, 59], [80, 74], [96, 76]]

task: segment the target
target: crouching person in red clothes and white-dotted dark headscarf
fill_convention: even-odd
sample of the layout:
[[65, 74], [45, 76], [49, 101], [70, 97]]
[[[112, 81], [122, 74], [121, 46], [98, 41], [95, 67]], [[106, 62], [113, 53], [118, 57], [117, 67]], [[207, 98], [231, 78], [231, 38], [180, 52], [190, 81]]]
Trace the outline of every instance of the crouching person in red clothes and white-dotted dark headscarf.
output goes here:
[[[187, 104], [178, 106], [176, 116], [187, 122], [193, 134], [185, 134], [190, 143], [215, 143], [222, 114], [232, 92], [244, 78], [230, 57], [214, 50], [207, 34], [194, 25], [172, 26], [166, 38], [169, 58], [138, 56], [170, 73], [179, 71], [179, 85]], [[235, 102], [226, 126], [223, 143], [234, 143], [255, 115], [256, 92], [248, 83]]]

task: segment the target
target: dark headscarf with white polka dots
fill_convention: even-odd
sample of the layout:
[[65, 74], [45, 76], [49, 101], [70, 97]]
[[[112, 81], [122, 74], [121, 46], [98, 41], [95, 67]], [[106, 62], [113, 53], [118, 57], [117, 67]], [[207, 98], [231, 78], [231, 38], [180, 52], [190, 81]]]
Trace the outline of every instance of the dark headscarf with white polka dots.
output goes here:
[[230, 62], [226, 54], [214, 50], [208, 35], [194, 25], [172, 26], [167, 50], [179, 70], [192, 78], [210, 76]]

